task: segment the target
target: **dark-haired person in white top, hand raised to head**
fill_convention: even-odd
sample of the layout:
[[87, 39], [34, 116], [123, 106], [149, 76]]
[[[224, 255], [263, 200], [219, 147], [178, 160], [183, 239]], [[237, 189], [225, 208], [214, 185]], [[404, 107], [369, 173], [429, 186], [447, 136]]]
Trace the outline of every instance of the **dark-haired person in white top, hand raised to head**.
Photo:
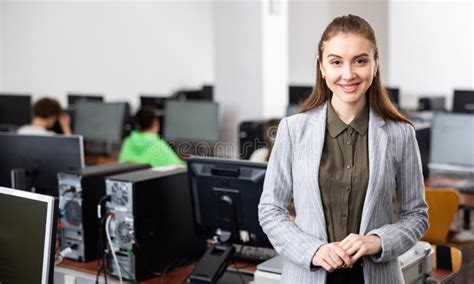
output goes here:
[[33, 105], [33, 120], [17, 131], [24, 135], [55, 135], [51, 131], [56, 121], [59, 122], [64, 135], [71, 135], [71, 118], [63, 111], [59, 102], [52, 98], [42, 98]]

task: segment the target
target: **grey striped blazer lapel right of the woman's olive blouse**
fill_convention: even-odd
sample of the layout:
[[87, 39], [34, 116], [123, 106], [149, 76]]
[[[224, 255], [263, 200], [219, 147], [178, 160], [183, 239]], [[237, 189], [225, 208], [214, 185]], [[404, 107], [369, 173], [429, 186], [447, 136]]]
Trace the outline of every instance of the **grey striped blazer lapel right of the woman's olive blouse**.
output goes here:
[[370, 110], [369, 115], [369, 181], [367, 193], [365, 196], [364, 208], [362, 209], [362, 219], [360, 224], [360, 233], [366, 234], [370, 218], [374, 211], [374, 206], [378, 201], [380, 185], [384, 175], [384, 166], [386, 163], [386, 152], [388, 135], [383, 126], [385, 121]]

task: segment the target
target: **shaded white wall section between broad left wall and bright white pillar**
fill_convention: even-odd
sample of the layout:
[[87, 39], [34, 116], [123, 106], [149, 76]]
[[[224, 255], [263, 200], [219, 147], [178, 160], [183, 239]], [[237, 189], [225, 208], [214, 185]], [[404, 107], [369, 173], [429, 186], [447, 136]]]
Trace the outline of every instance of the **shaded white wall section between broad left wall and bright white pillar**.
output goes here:
[[[240, 121], [261, 118], [261, 10], [257, 1], [218, 1], [214, 10], [216, 100], [221, 139], [236, 156]], [[245, 20], [243, 20], [245, 19]]]

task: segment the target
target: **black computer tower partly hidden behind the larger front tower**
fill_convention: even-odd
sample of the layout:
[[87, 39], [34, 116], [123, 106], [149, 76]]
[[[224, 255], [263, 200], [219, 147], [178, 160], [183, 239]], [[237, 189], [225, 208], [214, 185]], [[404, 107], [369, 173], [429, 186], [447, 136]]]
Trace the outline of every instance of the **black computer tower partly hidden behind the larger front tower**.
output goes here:
[[105, 178], [146, 168], [150, 166], [114, 163], [58, 174], [61, 249], [72, 248], [66, 257], [84, 262], [97, 258], [97, 204], [105, 195]]

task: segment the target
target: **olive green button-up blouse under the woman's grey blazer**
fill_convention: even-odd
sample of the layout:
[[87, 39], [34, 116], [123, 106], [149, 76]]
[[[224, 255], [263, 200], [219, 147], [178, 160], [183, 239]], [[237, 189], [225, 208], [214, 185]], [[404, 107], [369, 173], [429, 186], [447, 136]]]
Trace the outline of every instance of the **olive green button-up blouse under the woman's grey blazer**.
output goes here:
[[359, 233], [369, 180], [368, 125], [367, 104], [347, 125], [328, 102], [319, 187], [329, 242]]

